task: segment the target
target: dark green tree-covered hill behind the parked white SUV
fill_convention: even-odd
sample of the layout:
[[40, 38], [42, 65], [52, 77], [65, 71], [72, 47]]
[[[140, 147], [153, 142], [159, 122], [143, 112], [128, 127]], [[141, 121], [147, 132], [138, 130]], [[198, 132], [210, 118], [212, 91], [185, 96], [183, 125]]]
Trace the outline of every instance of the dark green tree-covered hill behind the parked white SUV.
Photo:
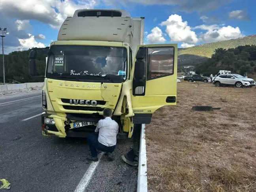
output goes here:
[[256, 72], [256, 45], [215, 49], [211, 58], [196, 66], [198, 74], [216, 74], [219, 70], [230, 70], [241, 75]]

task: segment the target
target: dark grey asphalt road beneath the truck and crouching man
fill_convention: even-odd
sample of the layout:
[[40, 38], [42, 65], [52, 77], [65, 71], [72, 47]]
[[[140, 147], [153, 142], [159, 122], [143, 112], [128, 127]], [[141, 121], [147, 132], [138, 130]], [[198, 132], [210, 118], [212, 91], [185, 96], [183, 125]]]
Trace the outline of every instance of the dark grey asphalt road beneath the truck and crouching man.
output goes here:
[[[0, 97], [0, 179], [11, 183], [10, 192], [71, 192], [79, 184], [86, 192], [136, 191], [137, 168], [121, 155], [138, 147], [137, 139], [118, 140], [116, 159], [102, 156], [95, 165], [86, 160], [86, 139], [43, 137], [42, 112], [41, 92]], [[95, 166], [89, 180], [85, 173]]]

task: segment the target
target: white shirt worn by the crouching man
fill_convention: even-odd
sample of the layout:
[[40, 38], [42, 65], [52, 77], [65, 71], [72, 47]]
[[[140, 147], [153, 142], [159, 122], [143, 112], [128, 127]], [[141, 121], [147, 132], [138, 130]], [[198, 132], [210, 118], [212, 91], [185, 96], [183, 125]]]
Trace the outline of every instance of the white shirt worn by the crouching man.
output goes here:
[[117, 144], [118, 130], [119, 126], [117, 122], [110, 117], [106, 117], [105, 119], [99, 120], [95, 132], [99, 132], [99, 143], [111, 147]]

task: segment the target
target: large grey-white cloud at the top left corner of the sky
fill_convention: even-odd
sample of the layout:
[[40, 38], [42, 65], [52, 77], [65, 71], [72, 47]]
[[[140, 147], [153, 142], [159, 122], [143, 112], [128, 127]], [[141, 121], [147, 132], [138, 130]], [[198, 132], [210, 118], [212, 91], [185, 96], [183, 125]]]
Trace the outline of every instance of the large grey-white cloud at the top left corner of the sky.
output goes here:
[[0, 11], [9, 18], [34, 19], [58, 28], [76, 9], [92, 8], [96, 1], [80, 0], [78, 5], [72, 0], [0, 0]]

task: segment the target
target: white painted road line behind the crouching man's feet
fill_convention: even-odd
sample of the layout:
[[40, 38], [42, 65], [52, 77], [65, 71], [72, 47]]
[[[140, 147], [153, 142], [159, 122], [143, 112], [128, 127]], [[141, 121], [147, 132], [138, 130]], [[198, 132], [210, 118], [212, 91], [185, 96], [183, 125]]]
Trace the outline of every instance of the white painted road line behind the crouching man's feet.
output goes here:
[[92, 178], [92, 175], [96, 169], [96, 167], [98, 166], [100, 159], [102, 158], [103, 154], [105, 154], [104, 152], [101, 152], [98, 155], [98, 161], [97, 162], [92, 162], [89, 166], [89, 168], [87, 169], [87, 171], [85, 172], [85, 175], [83, 176], [83, 178], [81, 179], [81, 181], [79, 182], [79, 184], [77, 185], [77, 187], [75, 188], [75, 192], [85, 192], [86, 187], [89, 184], [90, 179]]

